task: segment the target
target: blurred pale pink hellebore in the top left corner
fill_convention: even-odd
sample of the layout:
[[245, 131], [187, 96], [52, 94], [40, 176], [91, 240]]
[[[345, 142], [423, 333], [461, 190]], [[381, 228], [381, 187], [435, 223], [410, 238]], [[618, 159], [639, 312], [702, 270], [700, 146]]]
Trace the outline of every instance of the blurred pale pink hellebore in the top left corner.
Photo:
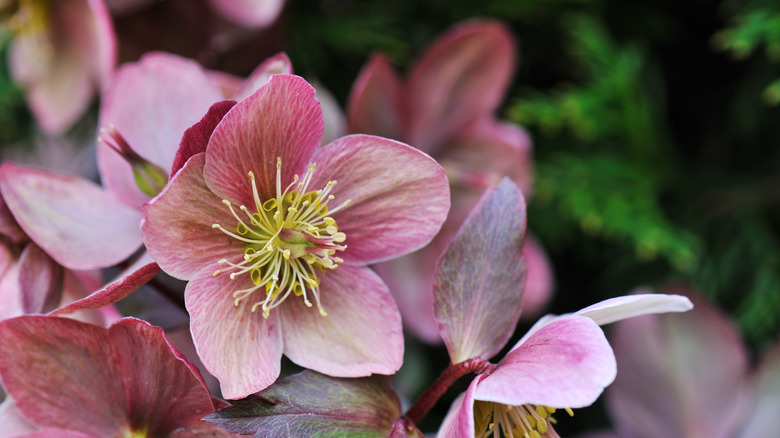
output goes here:
[[102, 0], [6, 0], [0, 27], [13, 35], [11, 76], [41, 129], [61, 134], [87, 109], [116, 64], [116, 37]]

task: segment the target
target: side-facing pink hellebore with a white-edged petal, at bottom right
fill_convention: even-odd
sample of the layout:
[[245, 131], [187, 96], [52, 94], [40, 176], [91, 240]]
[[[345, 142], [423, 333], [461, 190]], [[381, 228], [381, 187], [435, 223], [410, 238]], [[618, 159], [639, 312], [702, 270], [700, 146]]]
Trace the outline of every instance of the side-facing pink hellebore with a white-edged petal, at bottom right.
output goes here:
[[542, 318], [492, 372], [471, 382], [438, 436], [558, 437], [555, 410], [573, 415], [571, 408], [592, 404], [615, 379], [615, 356], [599, 325], [691, 307], [681, 296], [631, 295]]

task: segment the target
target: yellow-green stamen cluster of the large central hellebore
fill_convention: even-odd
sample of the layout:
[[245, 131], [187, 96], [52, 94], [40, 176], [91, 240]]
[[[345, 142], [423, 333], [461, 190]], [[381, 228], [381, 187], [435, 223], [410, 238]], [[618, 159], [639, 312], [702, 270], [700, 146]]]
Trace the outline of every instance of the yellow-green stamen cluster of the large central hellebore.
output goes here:
[[214, 276], [233, 271], [230, 279], [235, 280], [248, 274], [253, 286], [233, 292], [234, 304], [238, 307], [242, 300], [262, 290], [264, 297], [252, 305], [251, 311], [262, 307], [264, 318], [290, 294], [302, 297], [308, 307], [312, 307], [310, 297], [313, 297], [320, 314], [327, 316], [320, 302], [317, 273], [336, 269], [343, 262], [335, 254], [347, 249], [343, 245], [347, 236], [338, 230], [330, 214], [350, 201], [328, 208], [328, 202], [334, 199], [330, 192], [336, 181], [328, 181], [321, 190], [309, 190], [315, 169], [313, 163], [303, 177], [295, 175], [293, 182], [282, 190], [281, 168], [282, 160], [277, 158], [275, 198], [262, 201], [255, 176], [249, 172], [255, 204], [252, 210], [241, 205], [238, 212], [230, 201], [222, 200], [236, 218], [235, 232], [220, 224], [212, 227], [244, 243], [244, 256], [241, 263], [220, 260], [218, 263], [227, 267], [214, 271]]

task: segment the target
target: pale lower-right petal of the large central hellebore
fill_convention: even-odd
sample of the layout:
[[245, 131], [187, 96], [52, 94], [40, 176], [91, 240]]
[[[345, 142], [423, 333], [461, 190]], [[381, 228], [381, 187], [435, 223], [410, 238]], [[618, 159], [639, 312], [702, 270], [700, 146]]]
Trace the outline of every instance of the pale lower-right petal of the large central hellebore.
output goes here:
[[349, 265], [321, 274], [320, 280], [327, 316], [295, 296], [279, 307], [285, 355], [336, 377], [398, 371], [404, 350], [401, 317], [382, 280], [366, 267]]

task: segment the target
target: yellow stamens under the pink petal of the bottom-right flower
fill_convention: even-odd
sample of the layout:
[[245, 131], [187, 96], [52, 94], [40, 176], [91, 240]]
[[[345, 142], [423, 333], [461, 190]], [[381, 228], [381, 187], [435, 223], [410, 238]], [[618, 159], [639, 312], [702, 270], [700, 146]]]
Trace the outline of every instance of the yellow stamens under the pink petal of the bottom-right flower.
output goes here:
[[[474, 436], [477, 438], [513, 437], [541, 438], [557, 437], [558, 434], [550, 428], [555, 424], [552, 414], [555, 409], [549, 406], [522, 405], [507, 406], [501, 403], [474, 401]], [[571, 409], [566, 413], [574, 415]]]

